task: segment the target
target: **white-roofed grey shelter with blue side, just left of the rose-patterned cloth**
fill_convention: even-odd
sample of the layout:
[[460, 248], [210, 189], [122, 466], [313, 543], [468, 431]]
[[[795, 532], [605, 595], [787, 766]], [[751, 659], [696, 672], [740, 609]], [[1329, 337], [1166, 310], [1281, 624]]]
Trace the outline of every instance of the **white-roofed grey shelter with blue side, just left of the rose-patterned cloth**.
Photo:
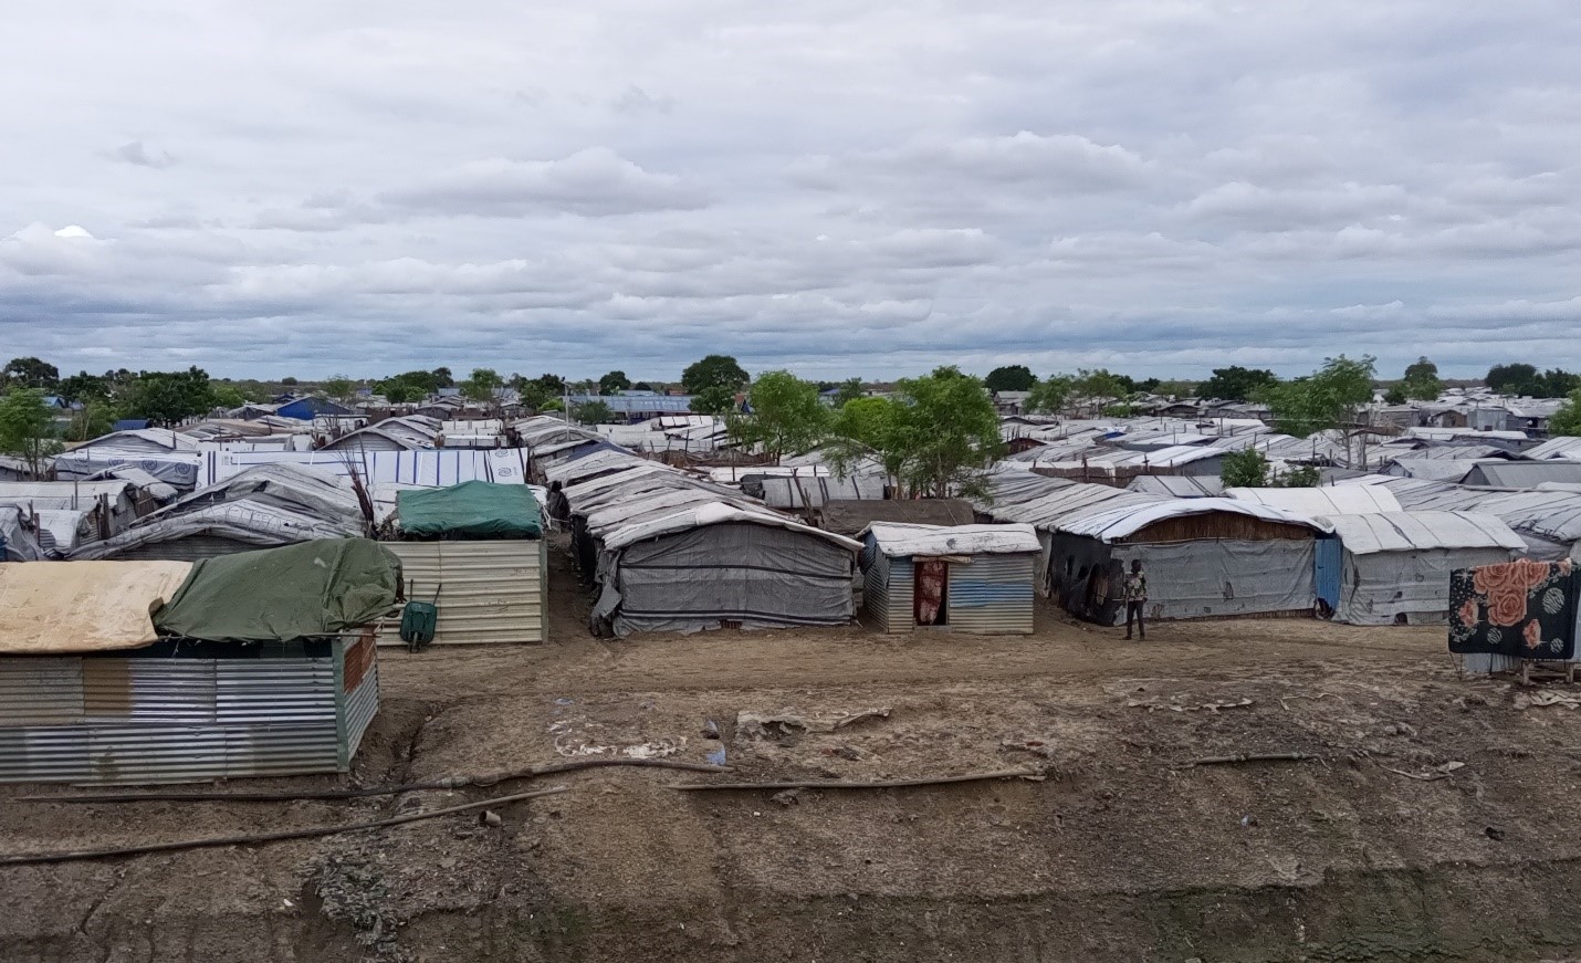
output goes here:
[[1450, 572], [1518, 558], [1526, 542], [1478, 512], [1325, 515], [1315, 546], [1320, 610], [1350, 625], [1443, 625]]

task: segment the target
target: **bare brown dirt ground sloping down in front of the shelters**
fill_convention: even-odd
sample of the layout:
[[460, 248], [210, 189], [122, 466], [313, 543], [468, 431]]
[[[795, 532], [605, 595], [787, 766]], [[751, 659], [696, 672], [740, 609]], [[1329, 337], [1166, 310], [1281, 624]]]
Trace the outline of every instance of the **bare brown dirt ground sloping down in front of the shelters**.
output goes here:
[[[6, 787], [6, 852], [568, 791], [498, 806], [500, 825], [466, 813], [0, 868], [0, 958], [1209, 963], [1557, 960], [1581, 947], [1581, 713], [1461, 678], [1439, 629], [1159, 623], [1123, 642], [1042, 607], [1026, 637], [604, 640], [555, 565], [549, 644], [383, 651], [383, 710], [349, 776], [221, 789], [721, 753], [734, 773], [599, 769], [283, 803], [66, 805]], [[757, 731], [754, 716], [800, 726]], [[1203, 762], [1240, 756], [1303, 759]], [[672, 787], [993, 770], [1036, 778]]]

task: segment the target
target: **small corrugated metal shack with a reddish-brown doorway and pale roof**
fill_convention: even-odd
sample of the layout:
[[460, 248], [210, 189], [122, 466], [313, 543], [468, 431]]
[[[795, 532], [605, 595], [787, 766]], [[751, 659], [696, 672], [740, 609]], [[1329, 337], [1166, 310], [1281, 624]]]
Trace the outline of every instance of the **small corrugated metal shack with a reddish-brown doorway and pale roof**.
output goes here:
[[1042, 546], [1031, 525], [904, 525], [862, 533], [863, 609], [881, 633], [1031, 634]]

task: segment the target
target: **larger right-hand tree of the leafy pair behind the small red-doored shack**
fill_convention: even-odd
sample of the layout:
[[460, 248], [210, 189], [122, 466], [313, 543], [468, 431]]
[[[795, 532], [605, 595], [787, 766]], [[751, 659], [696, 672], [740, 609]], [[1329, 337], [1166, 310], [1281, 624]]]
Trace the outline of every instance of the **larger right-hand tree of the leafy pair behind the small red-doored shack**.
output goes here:
[[987, 495], [987, 470], [1004, 444], [999, 413], [983, 383], [960, 368], [895, 384], [896, 443], [904, 451], [901, 481], [934, 498]]

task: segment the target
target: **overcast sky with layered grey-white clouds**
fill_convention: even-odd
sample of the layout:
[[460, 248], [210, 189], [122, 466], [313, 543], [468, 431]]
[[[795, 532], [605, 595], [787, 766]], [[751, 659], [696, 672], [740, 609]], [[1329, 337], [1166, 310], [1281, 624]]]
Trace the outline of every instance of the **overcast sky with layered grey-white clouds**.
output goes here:
[[674, 378], [1581, 367], [1575, 0], [79, 0], [0, 356]]

